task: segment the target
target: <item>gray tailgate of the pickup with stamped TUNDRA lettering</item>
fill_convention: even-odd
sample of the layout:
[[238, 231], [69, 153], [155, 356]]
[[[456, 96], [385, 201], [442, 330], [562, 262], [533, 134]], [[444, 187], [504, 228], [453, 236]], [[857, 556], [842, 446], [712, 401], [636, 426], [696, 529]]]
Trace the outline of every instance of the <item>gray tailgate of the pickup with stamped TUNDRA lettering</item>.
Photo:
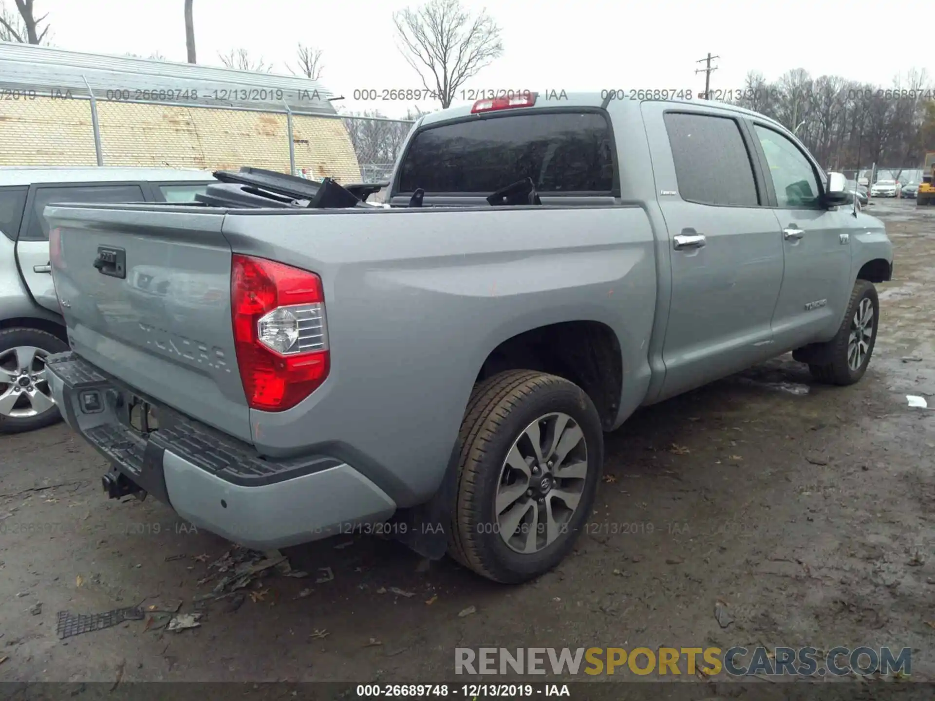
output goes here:
[[59, 205], [45, 215], [72, 349], [131, 389], [250, 441], [224, 211]]

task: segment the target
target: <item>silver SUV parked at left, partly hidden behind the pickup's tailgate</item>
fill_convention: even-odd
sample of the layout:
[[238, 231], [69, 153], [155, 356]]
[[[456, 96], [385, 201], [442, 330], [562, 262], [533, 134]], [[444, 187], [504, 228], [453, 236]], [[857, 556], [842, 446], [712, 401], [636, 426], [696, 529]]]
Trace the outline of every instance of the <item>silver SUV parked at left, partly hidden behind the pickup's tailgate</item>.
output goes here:
[[50, 275], [51, 202], [191, 202], [211, 174], [130, 167], [0, 167], [0, 433], [59, 420], [45, 358], [67, 350]]

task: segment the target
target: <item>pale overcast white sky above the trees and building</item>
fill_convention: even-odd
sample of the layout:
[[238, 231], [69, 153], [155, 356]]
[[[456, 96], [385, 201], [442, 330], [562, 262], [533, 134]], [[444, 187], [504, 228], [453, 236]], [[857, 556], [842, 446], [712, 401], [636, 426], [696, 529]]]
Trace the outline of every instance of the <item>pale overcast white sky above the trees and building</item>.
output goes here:
[[[931, 44], [915, 36], [912, 12], [869, 0], [462, 2], [474, 10], [487, 7], [504, 46], [499, 59], [468, 81], [469, 89], [698, 92], [704, 76], [696, 75], [702, 65], [696, 62], [708, 51], [720, 56], [712, 88], [722, 89], [741, 88], [751, 69], [776, 79], [798, 67], [814, 77], [889, 86], [900, 73], [932, 64]], [[285, 64], [295, 66], [301, 41], [324, 50], [322, 82], [346, 96], [339, 104], [400, 116], [411, 105], [355, 102], [352, 96], [359, 89], [422, 87], [396, 49], [393, 25], [394, 11], [418, 4], [194, 0], [198, 62], [220, 65], [219, 51], [244, 48], [288, 75]], [[144, 57], [159, 51], [180, 62], [186, 55], [182, 8], [182, 0], [36, 0], [36, 14], [49, 13], [51, 44], [58, 48]], [[421, 107], [428, 106], [437, 107]]]

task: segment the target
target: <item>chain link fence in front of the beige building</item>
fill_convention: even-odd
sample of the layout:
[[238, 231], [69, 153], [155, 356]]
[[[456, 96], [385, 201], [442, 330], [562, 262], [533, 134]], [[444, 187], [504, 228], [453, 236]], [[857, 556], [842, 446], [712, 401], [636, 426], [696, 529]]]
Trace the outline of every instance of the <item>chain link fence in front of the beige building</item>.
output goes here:
[[31, 94], [3, 103], [0, 165], [241, 165], [309, 179], [389, 179], [412, 121]]

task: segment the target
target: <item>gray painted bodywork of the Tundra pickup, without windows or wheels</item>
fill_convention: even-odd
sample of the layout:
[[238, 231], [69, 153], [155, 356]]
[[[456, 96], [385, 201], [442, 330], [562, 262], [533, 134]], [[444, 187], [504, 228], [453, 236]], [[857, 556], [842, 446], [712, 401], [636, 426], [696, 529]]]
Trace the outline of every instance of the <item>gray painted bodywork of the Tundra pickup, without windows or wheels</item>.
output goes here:
[[[601, 106], [594, 95], [570, 100]], [[72, 348], [157, 403], [235, 436], [245, 451], [273, 461], [327, 456], [332, 466], [289, 480], [303, 502], [279, 491], [249, 492], [260, 487], [225, 491], [216, 483], [223, 480], [195, 479], [192, 470], [200, 468], [181, 465], [166, 448], [161, 465], [174, 507], [241, 542], [272, 544], [295, 542], [296, 522], [281, 514], [266, 517], [279, 526], [264, 521], [266, 508], [243, 502], [249, 494], [266, 507], [281, 499], [289, 513], [300, 503], [324, 509], [326, 517], [303, 516], [298, 528], [323, 536], [338, 502], [338, 521], [359, 522], [436, 494], [484, 361], [526, 331], [580, 321], [611, 330], [623, 379], [608, 428], [640, 405], [834, 336], [860, 267], [892, 261], [883, 224], [854, 217], [850, 207], [683, 200], [662, 120], [669, 109], [768, 123], [794, 140], [733, 107], [611, 102], [619, 187], [612, 196], [543, 195], [539, 207], [428, 195], [426, 205], [460, 207], [48, 207], [50, 223], [63, 228], [65, 267], [55, 276], [60, 297], [71, 302], [65, 321]], [[410, 139], [466, 116], [465, 109], [427, 116]], [[401, 200], [407, 193], [391, 189], [390, 201]], [[792, 225], [807, 235], [785, 239]], [[706, 235], [707, 245], [678, 250], [675, 237], [689, 228]], [[102, 277], [91, 265], [99, 245], [125, 248], [125, 280]], [[230, 321], [233, 253], [311, 270], [323, 281], [330, 372], [294, 408], [247, 407]], [[162, 293], [139, 289], [147, 277], [162, 280]], [[67, 383], [55, 387], [65, 401]], [[99, 421], [68, 420], [82, 432], [82, 422]], [[325, 475], [334, 478], [336, 502], [299, 486]], [[353, 484], [362, 494], [357, 507], [345, 498]], [[223, 494], [241, 500], [237, 527], [218, 506]]]

